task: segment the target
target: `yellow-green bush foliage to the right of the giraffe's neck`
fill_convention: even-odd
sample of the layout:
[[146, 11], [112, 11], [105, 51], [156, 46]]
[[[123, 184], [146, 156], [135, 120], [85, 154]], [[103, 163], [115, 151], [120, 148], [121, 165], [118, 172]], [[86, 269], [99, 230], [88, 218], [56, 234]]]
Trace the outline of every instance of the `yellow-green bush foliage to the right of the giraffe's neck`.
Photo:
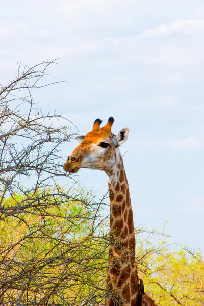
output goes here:
[[[142, 245], [138, 249], [140, 257], [141, 248]], [[142, 253], [144, 255], [144, 250]], [[163, 243], [160, 248], [146, 250], [142, 259], [139, 268], [145, 290], [151, 293], [159, 305], [204, 304], [204, 260], [200, 251], [193, 252], [187, 247], [172, 251]]]

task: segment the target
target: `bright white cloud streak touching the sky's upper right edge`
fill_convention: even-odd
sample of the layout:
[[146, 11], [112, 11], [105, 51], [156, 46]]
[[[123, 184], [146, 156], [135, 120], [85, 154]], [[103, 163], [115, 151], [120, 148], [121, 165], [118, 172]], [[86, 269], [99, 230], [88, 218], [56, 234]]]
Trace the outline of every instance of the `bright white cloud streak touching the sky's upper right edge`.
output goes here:
[[200, 30], [204, 31], [204, 20], [179, 20], [169, 25], [161, 24], [159, 27], [146, 30], [140, 37], [157, 37], [179, 31], [194, 33]]

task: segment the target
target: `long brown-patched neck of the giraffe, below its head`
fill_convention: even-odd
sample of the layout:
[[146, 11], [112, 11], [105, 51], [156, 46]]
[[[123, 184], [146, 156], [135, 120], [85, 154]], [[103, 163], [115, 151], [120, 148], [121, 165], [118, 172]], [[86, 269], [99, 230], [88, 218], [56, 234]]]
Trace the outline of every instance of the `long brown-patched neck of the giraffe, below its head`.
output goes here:
[[[135, 232], [122, 157], [109, 177], [110, 248], [107, 285], [110, 296], [106, 306], [137, 306], [138, 276], [135, 264]], [[116, 302], [117, 301], [117, 302]]]

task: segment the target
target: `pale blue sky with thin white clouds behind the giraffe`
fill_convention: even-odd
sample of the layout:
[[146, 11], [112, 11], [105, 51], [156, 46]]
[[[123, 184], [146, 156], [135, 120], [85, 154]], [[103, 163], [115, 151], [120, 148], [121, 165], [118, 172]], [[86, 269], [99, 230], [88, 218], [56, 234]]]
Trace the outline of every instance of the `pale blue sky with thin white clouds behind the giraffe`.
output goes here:
[[[168, 241], [204, 251], [203, 1], [10, 0], [0, 38], [2, 85], [17, 62], [58, 58], [47, 80], [69, 83], [34, 93], [44, 112], [56, 110], [82, 135], [96, 118], [113, 116], [114, 134], [129, 127], [121, 152], [135, 226], [162, 230], [168, 221]], [[101, 171], [75, 179], [98, 198], [108, 188]]]

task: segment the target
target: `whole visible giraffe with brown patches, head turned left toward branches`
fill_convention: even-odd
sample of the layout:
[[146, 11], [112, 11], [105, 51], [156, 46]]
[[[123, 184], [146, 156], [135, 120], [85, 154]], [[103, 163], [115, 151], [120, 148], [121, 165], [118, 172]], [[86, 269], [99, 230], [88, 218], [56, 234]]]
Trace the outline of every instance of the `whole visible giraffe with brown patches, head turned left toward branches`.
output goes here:
[[80, 143], [67, 158], [65, 171], [77, 173], [80, 168], [98, 169], [108, 176], [110, 197], [110, 246], [106, 306], [156, 306], [144, 293], [143, 282], [135, 263], [135, 231], [129, 185], [119, 146], [129, 135], [129, 129], [111, 132], [114, 118], [104, 127], [96, 119], [86, 136], [77, 136]]

